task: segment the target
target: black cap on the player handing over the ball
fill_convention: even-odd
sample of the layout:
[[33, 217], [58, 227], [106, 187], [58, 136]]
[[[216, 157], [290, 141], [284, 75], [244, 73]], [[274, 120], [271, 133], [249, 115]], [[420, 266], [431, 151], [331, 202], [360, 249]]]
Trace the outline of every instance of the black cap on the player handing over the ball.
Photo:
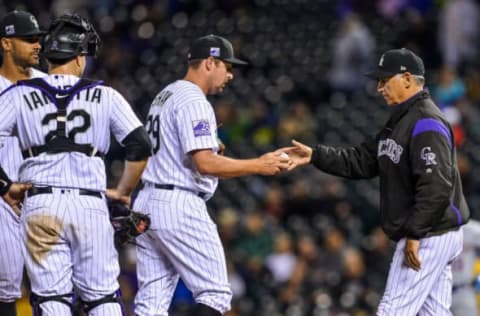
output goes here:
[[235, 58], [230, 41], [218, 35], [207, 35], [193, 41], [188, 53], [188, 60], [214, 57], [232, 65], [247, 65], [248, 63]]

